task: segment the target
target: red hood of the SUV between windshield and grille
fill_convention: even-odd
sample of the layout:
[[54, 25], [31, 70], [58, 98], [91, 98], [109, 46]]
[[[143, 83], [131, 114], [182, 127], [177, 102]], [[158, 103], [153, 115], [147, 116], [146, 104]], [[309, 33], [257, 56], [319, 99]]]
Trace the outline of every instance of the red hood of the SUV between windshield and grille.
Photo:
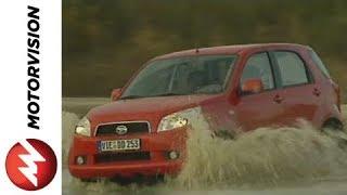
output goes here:
[[92, 108], [87, 117], [92, 127], [99, 123], [132, 120], [147, 120], [156, 125], [162, 117], [170, 113], [201, 105], [217, 96], [201, 94], [119, 100]]

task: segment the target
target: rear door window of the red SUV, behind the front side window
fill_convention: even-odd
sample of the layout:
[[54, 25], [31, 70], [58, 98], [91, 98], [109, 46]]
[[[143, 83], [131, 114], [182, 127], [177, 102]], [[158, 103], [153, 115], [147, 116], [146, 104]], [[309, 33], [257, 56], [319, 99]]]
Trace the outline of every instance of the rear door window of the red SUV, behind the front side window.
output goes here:
[[273, 53], [279, 65], [283, 87], [309, 82], [305, 64], [296, 53], [287, 51], [278, 51]]

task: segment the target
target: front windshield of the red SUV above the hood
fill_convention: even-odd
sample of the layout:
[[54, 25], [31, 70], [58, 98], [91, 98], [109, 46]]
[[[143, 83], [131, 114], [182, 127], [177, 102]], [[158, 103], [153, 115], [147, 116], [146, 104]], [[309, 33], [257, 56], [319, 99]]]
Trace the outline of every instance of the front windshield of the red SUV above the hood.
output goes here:
[[220, 93], [235, 58], [236, 55], [205, 55], [153, 61], [120, 99]]

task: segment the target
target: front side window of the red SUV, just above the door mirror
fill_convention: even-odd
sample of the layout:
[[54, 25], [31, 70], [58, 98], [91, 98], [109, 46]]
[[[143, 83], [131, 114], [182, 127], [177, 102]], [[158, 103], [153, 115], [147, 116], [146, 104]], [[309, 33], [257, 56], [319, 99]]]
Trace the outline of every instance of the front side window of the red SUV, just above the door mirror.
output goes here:
[[270, 60], [266, 52], [254, 54], [248, 58], [241, 77], [241, 83], [252, 78], [261, 79], [265, 90], [274, 88]]

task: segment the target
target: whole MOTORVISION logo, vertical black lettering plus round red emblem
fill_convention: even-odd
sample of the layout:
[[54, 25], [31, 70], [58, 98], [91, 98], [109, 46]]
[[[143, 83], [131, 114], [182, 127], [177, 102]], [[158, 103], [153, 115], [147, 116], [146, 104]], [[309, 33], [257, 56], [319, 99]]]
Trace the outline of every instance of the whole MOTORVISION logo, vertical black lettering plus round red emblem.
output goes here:
[[[40, 9], [27, 6], [27, 128], [40, 128]], [[47, 186], [56, 172], [56, 156], [43, 141], [25, 139], [12, 146], [5, 160], [12, 183], [26, 191]]]

